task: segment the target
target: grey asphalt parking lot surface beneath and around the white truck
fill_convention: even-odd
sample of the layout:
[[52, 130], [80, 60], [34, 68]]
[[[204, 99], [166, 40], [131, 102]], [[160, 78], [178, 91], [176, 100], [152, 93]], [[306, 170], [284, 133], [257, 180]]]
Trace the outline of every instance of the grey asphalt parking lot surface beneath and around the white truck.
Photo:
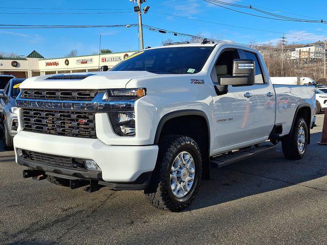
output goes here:
[[[22, 179], [0, 152], [0, 244], [327, 244], [327, 146], [274, 152], [214, 169], [185, 211], [160, 211], [141, 191], [94, 193]], [[27, 142], [28, 143], [28, 142]]]

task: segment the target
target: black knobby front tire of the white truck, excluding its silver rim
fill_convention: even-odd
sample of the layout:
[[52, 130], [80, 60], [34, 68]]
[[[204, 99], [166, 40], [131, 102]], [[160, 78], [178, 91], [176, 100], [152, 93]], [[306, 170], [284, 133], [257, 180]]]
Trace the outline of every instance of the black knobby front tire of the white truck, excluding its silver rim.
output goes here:
[[[162, 163], [160, 172], [158, 173], [159, 176], [157, 178], [160, 180], [159, 180], [159, 183], [157, 183], [157, 188], [156, 188], [155, 192], [152, 192], [152, 193], [145, 192], [145, 195], [148, 198], [148, 200], [150, 200], [151, 204], [158, 209], [162, 209], [162, 210], [166, 209], [166, 210], [170, 210], [173, 212], [181, 211], [182, 209], [188, 207], [193, 202], [193, 200], [195, 199], [195, 196], [198, 192], [200, 181], [198, 181], [197, 186], [193, 192], [193, 195], [188, 200], [189, 202], [187, 204], [175, 205], [174, 203], [172, 203], [172, 201], [169, 198], [168, 191], [170, 191], [170, 186], [167, 186], [165, 181], [161, 181], [162, 179], [164, 179], [164, 176], [165, 176], [165, 174], [167, 174], [167, 171], [170, 172], [169, 166], [170, 166], [173, 154], [183, 144], [192, 144], [195, 147], [197, 153], [199, 154], [199, 158], [202, 159], [199, 146], [195, 142], [195, 140], [192, 139], [191, 137], [171, 134], [171, 135], [164, 136], [164, 138], [162, 138], [162, 140], [160, 141], [160, 144], [159, 144], [159, 157], [158, 157], [159, 162]], [[201, 162], [199, 165], [201, 166]], [[202, 169], [201, 169], [201, 171], [198, 171], [198, 172], [201, 175]], [[201, 180], [201, 176], [198, 176], [197, 178], [198, 178], [198, 180]]]

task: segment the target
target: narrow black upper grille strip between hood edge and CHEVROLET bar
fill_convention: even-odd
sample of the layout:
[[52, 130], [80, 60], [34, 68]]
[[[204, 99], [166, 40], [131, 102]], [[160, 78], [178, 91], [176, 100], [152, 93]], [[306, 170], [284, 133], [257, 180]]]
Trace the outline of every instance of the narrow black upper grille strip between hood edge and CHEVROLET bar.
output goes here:
[[24, 89], [22, 99], [55, 101], [92, 101], [103, 90], [76, 89]]

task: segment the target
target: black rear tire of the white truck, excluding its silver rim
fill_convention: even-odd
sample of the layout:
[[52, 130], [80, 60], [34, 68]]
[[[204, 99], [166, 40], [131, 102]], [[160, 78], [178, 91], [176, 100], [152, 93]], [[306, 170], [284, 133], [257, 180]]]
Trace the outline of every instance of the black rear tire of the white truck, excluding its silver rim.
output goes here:
[[305, 131], [307, 132], [306, 141], [308, 144], [309, 135], [306, 121], [302, 117], [297, 117], [295, 119], [294, 127], [290, 133], [291, 135], [288, 135], [285, 139], [282, 140], [283, 153], [287, 159], [299, 160], [306, 155], [307, 145], [304, 153], [300, 154], [297, 150], [297, 132], [300, 126], [303, 126], [303, 128], [305, 128]]

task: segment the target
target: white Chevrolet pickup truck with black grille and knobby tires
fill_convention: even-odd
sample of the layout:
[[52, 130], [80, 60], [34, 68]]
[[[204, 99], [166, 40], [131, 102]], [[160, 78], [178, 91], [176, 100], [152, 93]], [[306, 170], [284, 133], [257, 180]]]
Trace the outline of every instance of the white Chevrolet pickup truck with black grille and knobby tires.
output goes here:
[[17, 97], [24, 178], [144, 190], [161, 209], [195, 198], [211, 167], [274, 149], [300, 159], [312, 86], [271, 84], [256, 50], [204, 40], [135, 53], [105, 72], [29, 78]]

